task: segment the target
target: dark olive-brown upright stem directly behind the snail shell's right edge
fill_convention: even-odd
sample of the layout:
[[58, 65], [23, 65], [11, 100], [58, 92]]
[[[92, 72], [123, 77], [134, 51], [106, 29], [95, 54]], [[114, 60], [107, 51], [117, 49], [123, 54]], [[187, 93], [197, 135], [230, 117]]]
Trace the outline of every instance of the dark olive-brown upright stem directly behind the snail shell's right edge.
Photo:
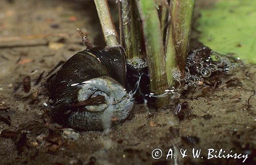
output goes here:
[[[134, 0], [118, 2], [120, 18], [120, 40], [128, 61], [143, 58], [141, 43], [141, 22]], [[144, 58], [143, 58], [144, 59]]]

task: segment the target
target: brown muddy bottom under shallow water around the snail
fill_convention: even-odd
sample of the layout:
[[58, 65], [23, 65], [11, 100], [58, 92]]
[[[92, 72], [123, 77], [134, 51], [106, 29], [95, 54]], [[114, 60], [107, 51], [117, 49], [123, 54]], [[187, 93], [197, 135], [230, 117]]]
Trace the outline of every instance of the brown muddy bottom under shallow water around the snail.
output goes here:
[[[207, 2], [198, 1], [195, 17], [215, 1]], [[217, 156], [221, 149], [224, 155], [248, 154], [243, 164], [255, 163], [255, 65], [242, 66], [218, 83], [206, 81], [190, 88], [180, 99], [177, 115], [173, 106], [148, 109], [136, 104], [129, 119], [104, 132], [76, 132], [52, 122], [42, 85], [58, 63], [85, 49], [76, 28], [96, 45], [103, 43], [93, 5], [93, 1], [0, 2], [1, 164], [242, 164], [244, 160], [208, 159], [208, 149], [217, 151], [211, 153]], [[193, 32], [195, 46], [197, 35]], [[162, 157], [160, 151], [153, 156], [159, 159], [152, 156], [156, 148]], [[196, 159], [193, 148], [201, 149]], [[174, 154], [166, 160], [169, 149]], [[180, 149], [187, 149], [187, 156], [182, 158]]]

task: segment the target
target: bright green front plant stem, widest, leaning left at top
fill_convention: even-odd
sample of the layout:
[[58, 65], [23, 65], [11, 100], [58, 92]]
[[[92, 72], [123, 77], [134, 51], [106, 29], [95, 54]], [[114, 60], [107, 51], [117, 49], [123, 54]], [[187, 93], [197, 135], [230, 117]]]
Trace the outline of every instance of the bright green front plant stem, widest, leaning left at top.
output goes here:
[[[146, 45], [147, 66], [150, 74], [150, 89], [156, 95], [167, 89], [164, 46], [160, 21], [154, 0], [136, 1], [142, 19]], [[157, 106], [166, 104], [166, 98], [158, 99]]]

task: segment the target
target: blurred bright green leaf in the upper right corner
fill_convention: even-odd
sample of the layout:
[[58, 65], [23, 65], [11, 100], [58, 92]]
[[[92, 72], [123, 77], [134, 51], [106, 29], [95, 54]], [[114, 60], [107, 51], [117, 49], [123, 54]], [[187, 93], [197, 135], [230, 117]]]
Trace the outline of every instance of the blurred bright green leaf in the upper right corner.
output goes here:
[[199, 41], [212, 50], [256, 64], [256, 1], [222, 0], [203, 9]]

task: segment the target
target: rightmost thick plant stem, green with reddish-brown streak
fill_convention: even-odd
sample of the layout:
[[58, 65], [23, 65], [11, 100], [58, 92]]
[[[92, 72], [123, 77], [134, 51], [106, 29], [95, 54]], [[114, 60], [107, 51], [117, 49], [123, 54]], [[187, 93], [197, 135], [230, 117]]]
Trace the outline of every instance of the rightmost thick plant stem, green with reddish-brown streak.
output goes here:
[[169, 86], [173, 86], [174, 70], [180, 72], [180, 80], [185, 77], [187, 47], [195, 0], [173, 0], [170, 5], [172, 17], [166, 35], [166, 73]]

